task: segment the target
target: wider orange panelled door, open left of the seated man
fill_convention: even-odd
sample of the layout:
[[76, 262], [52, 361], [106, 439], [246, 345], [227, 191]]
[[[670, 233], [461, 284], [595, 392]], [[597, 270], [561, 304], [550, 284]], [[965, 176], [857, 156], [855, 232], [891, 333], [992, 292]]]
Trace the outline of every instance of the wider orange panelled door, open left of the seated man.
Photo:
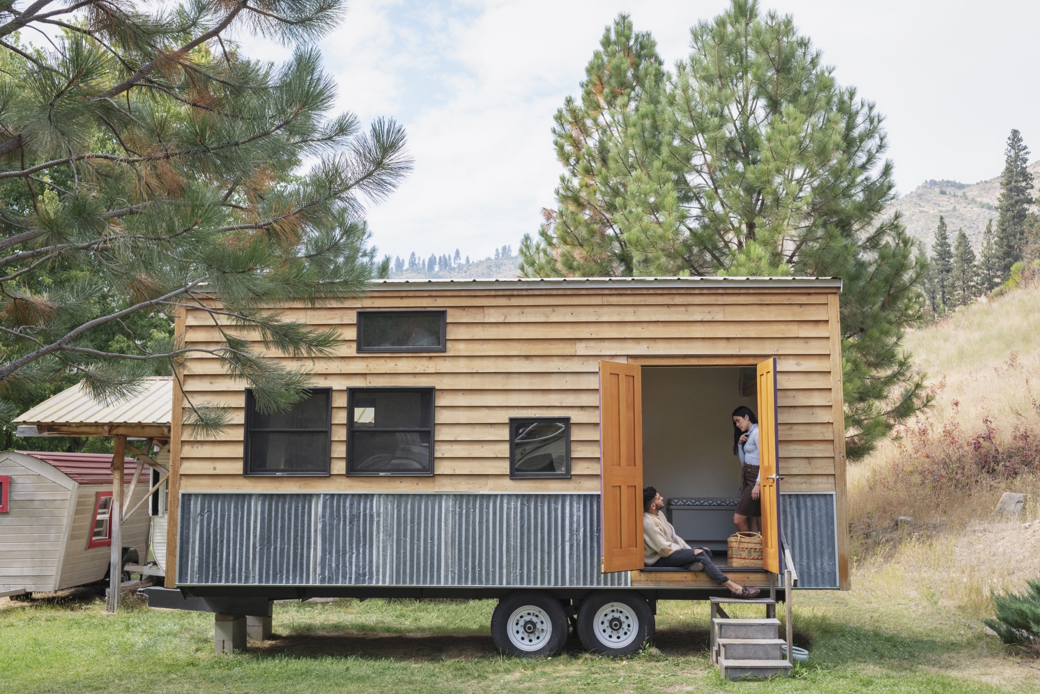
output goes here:
[[602, 571], [643, 568], [643, 382], [639, 364], [599, 362]]

